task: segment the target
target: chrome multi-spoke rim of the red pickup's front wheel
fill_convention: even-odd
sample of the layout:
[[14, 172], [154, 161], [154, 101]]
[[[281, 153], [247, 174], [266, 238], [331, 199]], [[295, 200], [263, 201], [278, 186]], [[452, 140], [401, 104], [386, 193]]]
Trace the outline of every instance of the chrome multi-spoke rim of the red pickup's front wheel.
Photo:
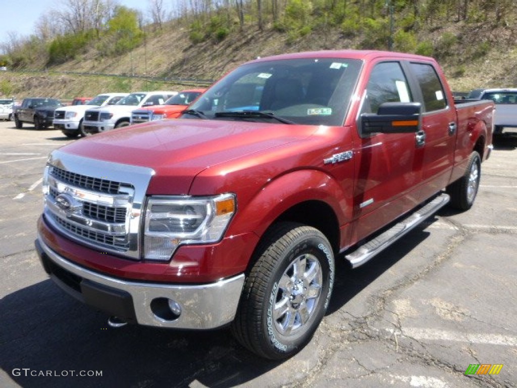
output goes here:
[[320, 262], [313, 255], [303, 254], [286, 268], [278, 282], [273, 309], [280, 334], [293, 334], [309, 321], [320, 299], [322, 281]]

